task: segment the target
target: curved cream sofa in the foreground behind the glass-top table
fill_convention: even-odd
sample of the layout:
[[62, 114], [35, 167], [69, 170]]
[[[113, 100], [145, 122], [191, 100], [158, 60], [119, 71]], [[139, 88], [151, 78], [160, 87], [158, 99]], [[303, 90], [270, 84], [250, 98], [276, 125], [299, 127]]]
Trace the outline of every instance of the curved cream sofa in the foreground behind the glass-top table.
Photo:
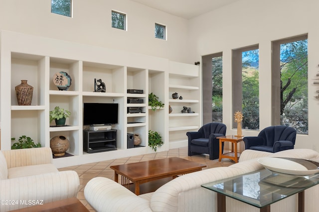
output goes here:
[[[97, 212], [217, 212], [217, 195], [202, 188], [212, 181], [263, 169], [260, 157], [293, 157], [319, 161], [319, 153], [310, 149], [291, 149], [277, 153], [245, 150], [239, 163], [182, 175], [161, 186], [153, 193], [135, 195], [108, 178], [90, 180], [84, 196]], [[297, 212], [298, 196], [286, 198], [271, 205], [272, 212]], [[305, 212], [319, 208], [319, 187], [305, 192]], [[226, 197], [227, 212], [259, 212], [259, 209]]]

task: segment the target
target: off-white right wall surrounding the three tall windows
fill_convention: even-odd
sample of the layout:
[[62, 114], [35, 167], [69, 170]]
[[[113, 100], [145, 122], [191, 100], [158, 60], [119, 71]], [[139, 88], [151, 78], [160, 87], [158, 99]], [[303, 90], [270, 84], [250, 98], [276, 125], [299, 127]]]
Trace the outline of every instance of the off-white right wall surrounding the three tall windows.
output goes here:
[[[260, 128], [271, 125], [271, 41], [308, 33], [309, 35], [309, 135], [298, 135], [296, 148], [319, 150], [318, 86], [319, 71], [318, 0], [240, 0], [189, 21], [189, 57], [223, 52], [223, 121], [232, 130], [232, 49], [259, 44], [260, 50]], [[244, 135], [258, 132], [245, 131]]]

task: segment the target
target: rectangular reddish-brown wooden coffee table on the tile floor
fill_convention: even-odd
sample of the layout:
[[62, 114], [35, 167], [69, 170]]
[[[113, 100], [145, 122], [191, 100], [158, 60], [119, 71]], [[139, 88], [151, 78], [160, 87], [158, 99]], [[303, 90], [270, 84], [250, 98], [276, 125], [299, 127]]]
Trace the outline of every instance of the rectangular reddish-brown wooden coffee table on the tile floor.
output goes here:
[[115, 171], [115, 182], [118, 183], [119, 174], [122, 175], [122, 185], [129, 189], [130, 183], [134, 183], [135, 194], [140, 195], [140, 184], [167, 177], [175, 178], [177, 175], [200, 171], [204, 167], [206, 165], [171, 157], [111, 166], [111, 169]]

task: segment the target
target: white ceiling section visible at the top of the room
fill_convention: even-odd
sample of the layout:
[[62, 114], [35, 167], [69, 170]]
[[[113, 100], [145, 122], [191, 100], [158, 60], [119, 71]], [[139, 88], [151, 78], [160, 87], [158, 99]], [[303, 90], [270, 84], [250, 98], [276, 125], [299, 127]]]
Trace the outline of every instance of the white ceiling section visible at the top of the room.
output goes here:
[[161, 11], [190, 19], [238, 0], [133, 0]]

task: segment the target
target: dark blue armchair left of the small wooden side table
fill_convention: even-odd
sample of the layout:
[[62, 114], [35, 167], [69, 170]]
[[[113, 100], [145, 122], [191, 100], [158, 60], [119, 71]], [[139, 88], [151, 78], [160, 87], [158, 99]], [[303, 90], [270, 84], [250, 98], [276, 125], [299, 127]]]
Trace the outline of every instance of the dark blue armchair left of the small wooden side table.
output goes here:
[[226, 134], [226, 125], [223, 123], [207, 123], [198, 129], [197, 132], [187, 132], [188, 156], [196, 154], [209, 154], [209, 159], [214, 160], [219, 157], [218, 136]]

